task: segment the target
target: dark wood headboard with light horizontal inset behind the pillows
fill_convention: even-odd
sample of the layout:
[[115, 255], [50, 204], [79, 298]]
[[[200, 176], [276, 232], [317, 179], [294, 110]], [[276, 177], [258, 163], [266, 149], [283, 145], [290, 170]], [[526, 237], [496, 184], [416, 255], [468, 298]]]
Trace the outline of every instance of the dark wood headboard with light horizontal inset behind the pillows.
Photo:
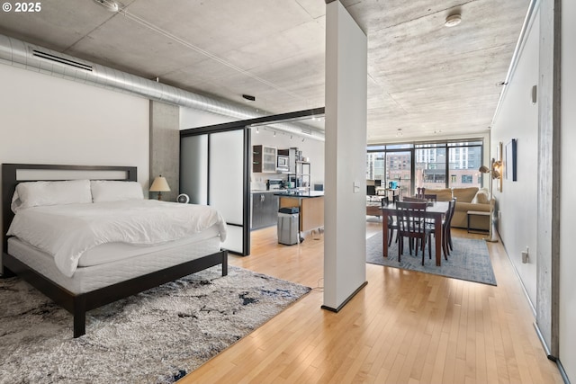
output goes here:
[[[86, 172], [85, 179], [99, 179], [102, 177], [90, 177], [90, 173], [97, 172], [121, 172], [126, 176], [124, 178], [106, 178], [106, 180], [121, 180], [126, 182], [137, 181], [136, 166], [112, 166], [112, 165], [47, 165], [47, 164], [3, 164], [2, 165], [2, 230], [4, 231], [4, 241], [2, 249], [7, 252], [8, 237], [6, 232], [10, 227], [12, 219], [14, 219], [14, 212], [11, 210], [12, 196], [16, 190], [16, 185], [20, 182], [30, 181], [55, 181], [58, 179], [50, 178], [19, 178], [18, 171], [31, 170], [38, 171], [40, 174], [43, 171], [74, 171]], [[59, 179], [62, 180], [62, 179]]]

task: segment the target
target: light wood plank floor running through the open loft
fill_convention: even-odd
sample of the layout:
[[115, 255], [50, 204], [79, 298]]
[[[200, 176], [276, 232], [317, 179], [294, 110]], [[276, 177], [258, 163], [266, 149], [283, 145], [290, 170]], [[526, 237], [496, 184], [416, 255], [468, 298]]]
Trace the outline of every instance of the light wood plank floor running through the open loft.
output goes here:
[[488, 247], [498, 287], [366, 264], [336, 314], [320, 308], [322, 235], [280, 246], [275, 228], [255, 231], [252, 255], [229, 263], [314, 290], [180, 382], [562, 383], [504, 248]]

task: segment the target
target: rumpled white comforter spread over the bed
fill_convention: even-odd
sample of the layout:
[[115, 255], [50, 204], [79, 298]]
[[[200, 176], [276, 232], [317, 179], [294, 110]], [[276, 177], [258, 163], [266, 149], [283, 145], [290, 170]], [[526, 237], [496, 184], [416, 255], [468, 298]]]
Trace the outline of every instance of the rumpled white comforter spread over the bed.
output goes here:
[[167, 201], [129, 200], [32, 207], [18, 210], [9, 236], [15, 236], [54, 257], [67, 277], [83, 253], [106, 243], [159, 245], [217, 225], [220, 241], [226, 223], [209, 206]]

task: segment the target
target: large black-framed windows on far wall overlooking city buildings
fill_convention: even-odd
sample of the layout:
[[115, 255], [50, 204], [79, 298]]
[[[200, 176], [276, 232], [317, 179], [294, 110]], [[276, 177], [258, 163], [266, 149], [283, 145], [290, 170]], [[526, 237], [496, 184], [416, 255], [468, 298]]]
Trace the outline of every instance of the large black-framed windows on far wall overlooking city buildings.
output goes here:
[[421, 187], [481, 188], [482, 148], [482, 140], [369, 146], [366, 179], [396, 182], [403, 196]]

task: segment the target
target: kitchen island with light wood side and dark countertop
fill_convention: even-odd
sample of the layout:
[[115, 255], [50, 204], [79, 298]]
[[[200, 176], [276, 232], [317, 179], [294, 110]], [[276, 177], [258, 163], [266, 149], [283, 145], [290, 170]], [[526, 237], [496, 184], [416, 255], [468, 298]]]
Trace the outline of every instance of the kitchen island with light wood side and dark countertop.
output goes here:
[[324, 227], [324, 192], [275, 192], [279, 197], [279, 208], [298, 207], [300, 210], [300, 231]]

